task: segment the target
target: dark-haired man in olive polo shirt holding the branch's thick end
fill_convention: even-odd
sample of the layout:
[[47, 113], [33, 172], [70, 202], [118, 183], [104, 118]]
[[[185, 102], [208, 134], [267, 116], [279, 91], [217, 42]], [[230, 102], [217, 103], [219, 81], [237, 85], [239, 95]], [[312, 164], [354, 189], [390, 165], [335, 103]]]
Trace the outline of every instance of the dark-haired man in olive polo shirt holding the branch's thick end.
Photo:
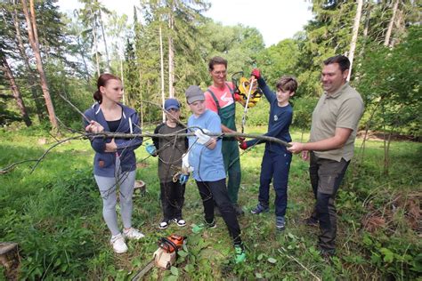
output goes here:
[[353, 157], [354, 140], [363, 114], [363, 100], [346, 81], [350, 61], [337, 55], [324, 60], [321, 73], [322, 94], [312, 113], [309, 142], [291, 142], [293, 153], [310, 151], [309, 173], [316, 199], [307, 224], [320, 223], [319, 248], [324, 257], [336, 252], [337, 214], [334, 200], [337, 189]]

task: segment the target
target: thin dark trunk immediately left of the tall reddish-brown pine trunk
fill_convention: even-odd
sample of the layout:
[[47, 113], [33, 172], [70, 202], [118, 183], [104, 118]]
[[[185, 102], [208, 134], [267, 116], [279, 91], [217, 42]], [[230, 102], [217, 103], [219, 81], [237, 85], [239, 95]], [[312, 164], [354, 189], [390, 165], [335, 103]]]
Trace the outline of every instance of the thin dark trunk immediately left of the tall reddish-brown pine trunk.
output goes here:
[[[16, 4], [15, 0], [13, 0], [13, 4]], [[29, 64], [29, 58], [27, 53], [25, 52], [25, 46], [23, 44], [22, 36], [20, 35], [20, 28], [19, 28], [19, 20], [18, 20], [18, 12], [16, 11], [16, 8], [13, 9], [12, 13], [12, 19], [13, 19], [13, 25], [16, 31], [16, 45], [18, 46], [18, 51], [20, 53], [20, 56], [22, 57], [25, 66], [28, 70], [28, 82], [29, 82], [29, 88], [32, 95], [32, 99], [35, 102], [36, 108], [37, 108], [37, 118], [38, 121], [41, 122], [45, 117], [45, 111], [43, 108], [43, 104], [40, 102], [38, 93], [37, 93], [37, 76], [35, 75], [33, 69], [31, 68]]]

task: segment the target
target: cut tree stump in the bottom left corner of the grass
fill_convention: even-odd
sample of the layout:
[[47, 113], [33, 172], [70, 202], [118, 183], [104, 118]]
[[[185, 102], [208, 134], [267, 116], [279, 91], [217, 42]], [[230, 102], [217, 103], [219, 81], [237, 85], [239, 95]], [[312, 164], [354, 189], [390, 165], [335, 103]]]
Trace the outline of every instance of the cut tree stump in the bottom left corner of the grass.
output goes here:
[[20, 257], [18, 253], [18, 244], [12, 242], [0, 242], [0, 264], [4, 267], [7, 280], [18, 279], [18, 266]]

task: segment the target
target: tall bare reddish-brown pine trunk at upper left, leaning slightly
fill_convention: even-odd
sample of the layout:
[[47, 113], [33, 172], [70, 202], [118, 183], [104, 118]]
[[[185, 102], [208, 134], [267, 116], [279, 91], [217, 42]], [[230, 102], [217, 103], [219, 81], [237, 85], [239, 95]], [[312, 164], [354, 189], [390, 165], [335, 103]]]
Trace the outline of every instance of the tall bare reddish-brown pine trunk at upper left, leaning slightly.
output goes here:
[[48, 116], [50, 118], [50, 123], [52, 124], [53, 132], [58, 132], [59, 124], [57, 124], [56, 115], [54, 113], [54, 107], [52, 98], [50, 96], [50, 90], [48, 89], [47, 79], [45, 77], [43, 60], [41, 60], [41, 53], [39, 52], [38, 47], [38, 33], [37, 33], [37, 22], [34, 9], [34, 0], [29, 0], [31, 17], [29, 17], [27, 0], [20, 0], [22, 3], [23, 12], [25, 13], [25, 19], [27, 20], [28, 28], [28, 39], [31, 44], [32, 51], [37, 60], [37, 70], [40, 77], [41, 88], [43, 89], [45, 106], [47, 107]]

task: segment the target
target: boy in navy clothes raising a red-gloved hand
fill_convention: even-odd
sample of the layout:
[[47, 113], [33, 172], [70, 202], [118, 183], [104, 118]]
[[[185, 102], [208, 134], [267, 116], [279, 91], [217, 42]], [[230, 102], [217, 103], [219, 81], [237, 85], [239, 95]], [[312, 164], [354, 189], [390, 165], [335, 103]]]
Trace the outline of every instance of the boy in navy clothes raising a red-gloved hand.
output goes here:
[[[268, 121], [268, 132], [265, 136], [274, 137], [281, 141], [290, 142], [291, 137], [288, 127], [292, 123], [293, 108], [288, 100], [297, 89], [296, 79], [292, 76], [281, 76], [277, 82], [277, 93], [270, 90], [261, 76], [259, 69], [252, 71], [252, 76], [258, 81], [259, 88], [264, 92], [268, 102], [270, 102], [270, 117]], [[242, 141], [240, 149], [248, 149], [251, 146], [265, 141], [250, 140]], [[270, 183], [273, 180], [275, 190], [275, 216], [276, 228], [284, 230], [286, 225], [285, 215], [288, 205], [288, 171], [292, 154], [286, 147], [273, 142], [265, 142], [263, 162], [261, 164], [261, 176], [259, 185], [259, 203], [251, 213], [263, 213], [269, 211]]]

